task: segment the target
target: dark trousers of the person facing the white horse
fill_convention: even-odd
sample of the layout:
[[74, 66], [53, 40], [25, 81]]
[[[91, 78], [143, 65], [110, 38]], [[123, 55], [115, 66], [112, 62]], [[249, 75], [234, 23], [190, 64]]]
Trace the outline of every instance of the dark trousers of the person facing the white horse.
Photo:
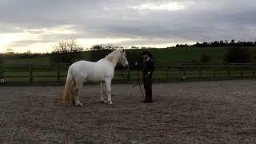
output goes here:
[[146, 102], [153, 102], [152, 99], [152, 77], [143, 76], [144, 89], [146, 91]]

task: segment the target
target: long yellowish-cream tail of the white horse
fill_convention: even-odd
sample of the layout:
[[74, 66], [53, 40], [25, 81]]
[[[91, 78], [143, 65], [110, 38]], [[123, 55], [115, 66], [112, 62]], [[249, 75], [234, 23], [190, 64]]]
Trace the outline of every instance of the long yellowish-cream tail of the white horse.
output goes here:
[[74, 104], [74, 91], [76, 86], [71, 71], [71, 68], [69, 68], [67, 72], [63, 102]]

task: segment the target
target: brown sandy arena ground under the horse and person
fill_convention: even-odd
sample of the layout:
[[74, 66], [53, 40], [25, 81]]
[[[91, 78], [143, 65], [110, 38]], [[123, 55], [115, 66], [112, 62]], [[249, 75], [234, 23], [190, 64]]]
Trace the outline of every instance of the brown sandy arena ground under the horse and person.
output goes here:
[[0, 86], [0, 143], [255, 143], [256, 81], [84, 86], [82, 107], [61, 101], [63, 86]]

